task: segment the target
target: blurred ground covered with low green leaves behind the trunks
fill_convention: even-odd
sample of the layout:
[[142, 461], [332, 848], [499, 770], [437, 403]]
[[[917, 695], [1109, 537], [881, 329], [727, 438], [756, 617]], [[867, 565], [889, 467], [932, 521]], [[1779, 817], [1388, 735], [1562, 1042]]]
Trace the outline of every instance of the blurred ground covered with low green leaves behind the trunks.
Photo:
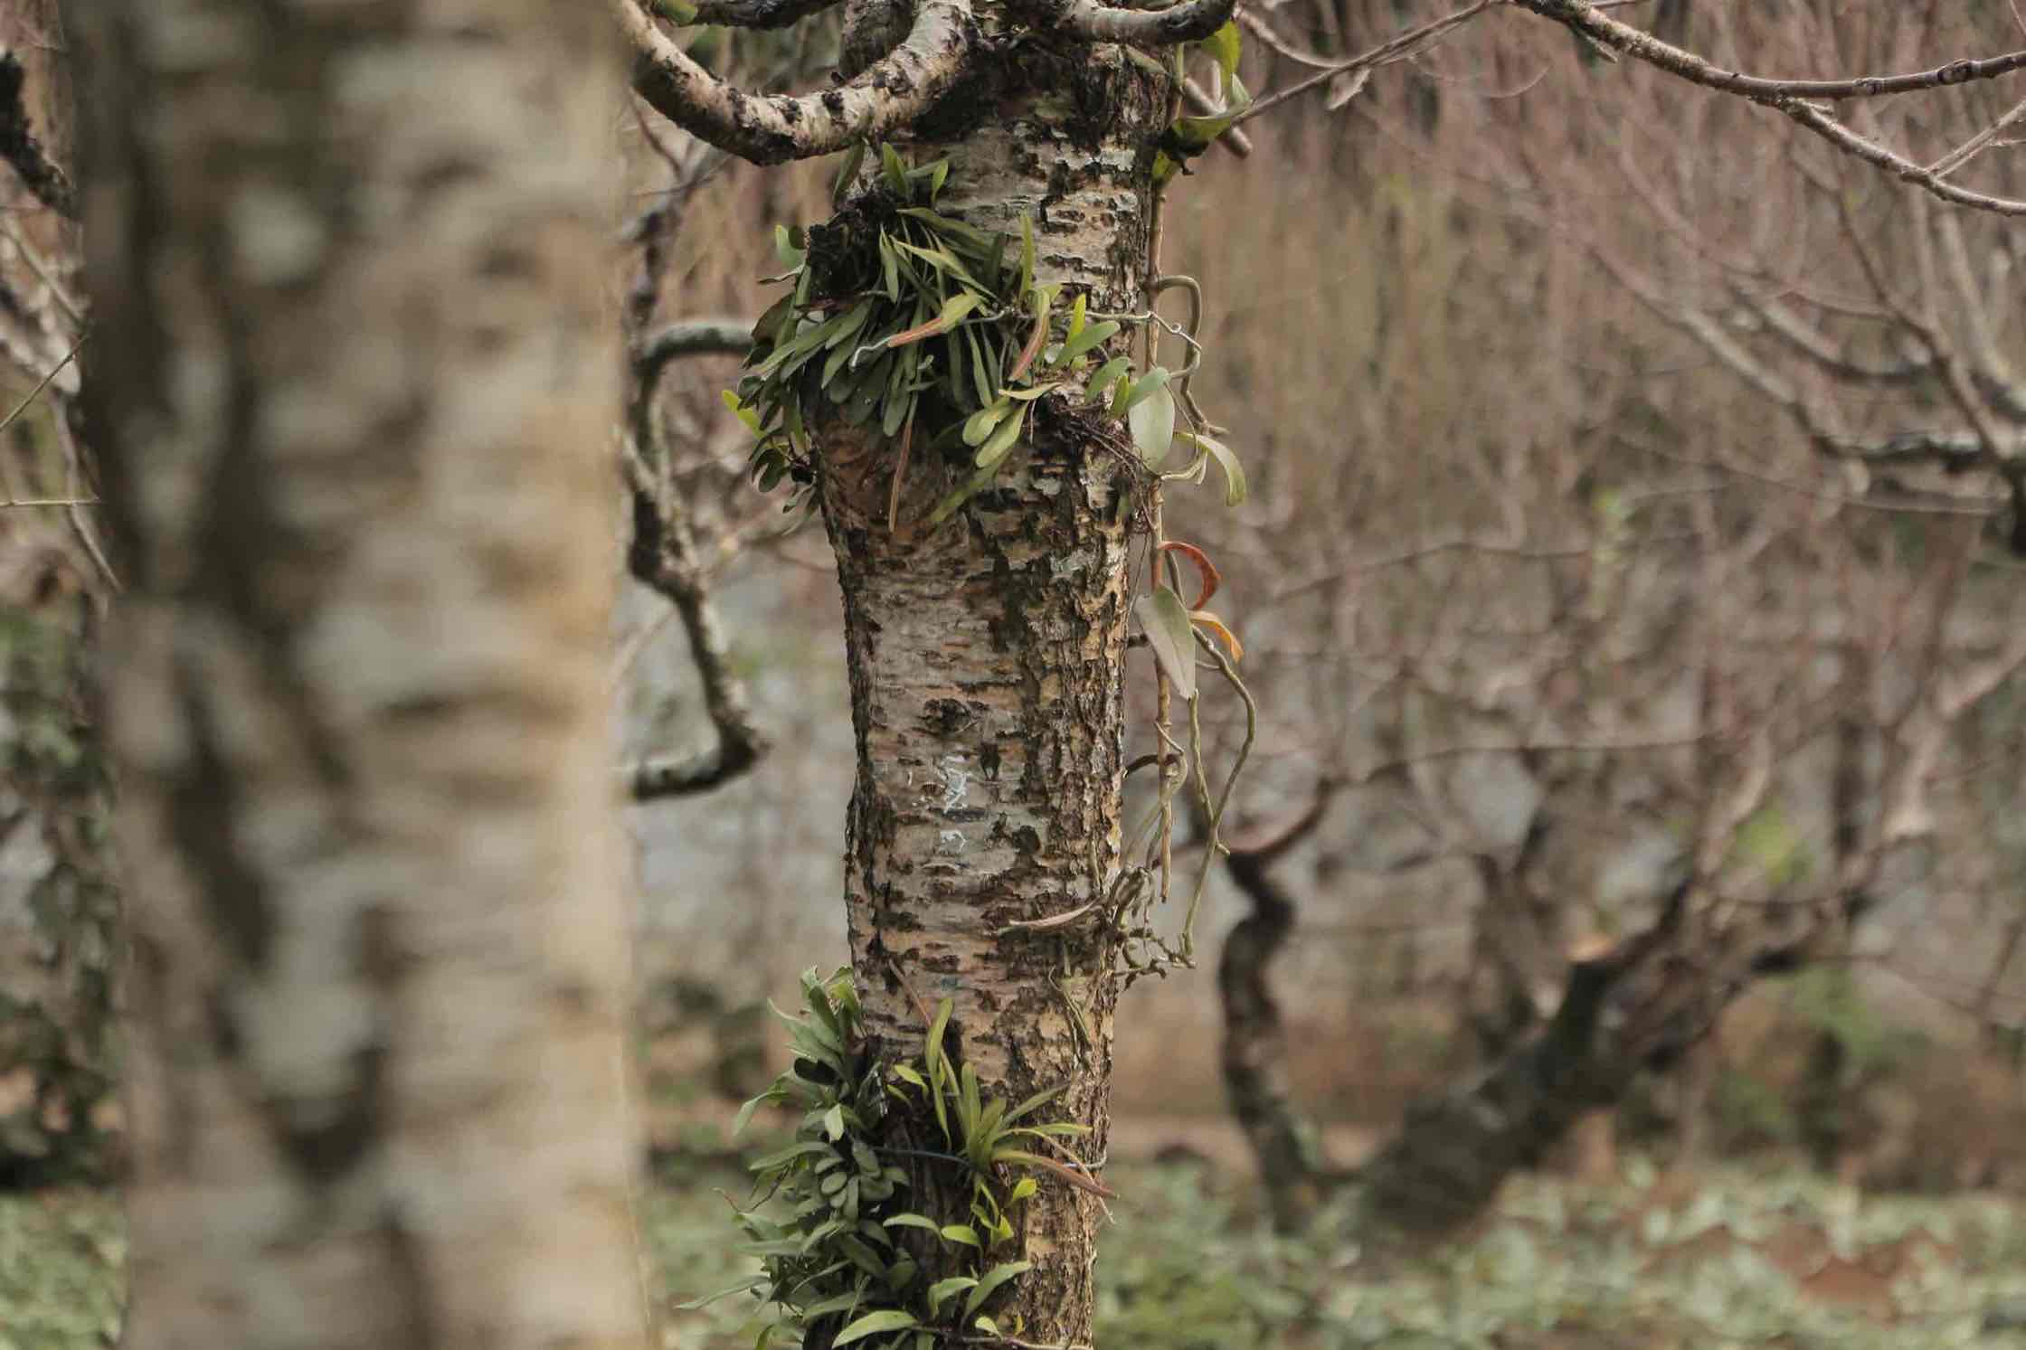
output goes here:
[[[750, 1346], [752, 1269], [729, 1225], [739, 1176], [695, 1164], [648, 1192], [665, 1344]], [[1104, 1233], [1104, 1350], [2026, 1350], [2026, 1208], [1872, 1196], [1793, 1172], [1621, 1184], [1524, 1178], [1469, 1239], [1376, 1259], [1355, 1218], [1274, 1239], [1195, 1166], [1118, 1168]], [[0, 1350], [109, 1346], [124, 1253], [99, 1192], [0, 1196]]]

